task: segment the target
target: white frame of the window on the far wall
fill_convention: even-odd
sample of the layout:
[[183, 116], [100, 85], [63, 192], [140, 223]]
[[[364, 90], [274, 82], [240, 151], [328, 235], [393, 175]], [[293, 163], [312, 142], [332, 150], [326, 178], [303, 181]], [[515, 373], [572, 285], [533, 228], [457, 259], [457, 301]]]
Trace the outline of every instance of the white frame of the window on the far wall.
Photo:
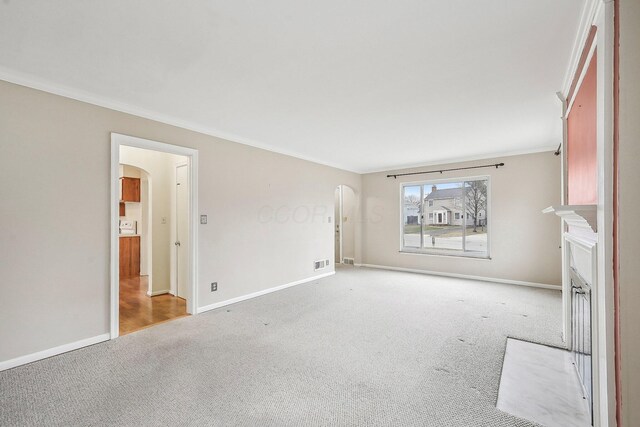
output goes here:
[[[451, 251], [446, 249], [433, 249], [433, 248], [411, 248], [404, 247], [404, 187], [415, 187], [415, 186], [429, 186], [429, 185], [440, 185], [440, 184], [450, 184], [453, 182], [465, 182], [465, 181], [478, 181], [478, 180], [486, 180], [487, 181], [487, 208], [486, 208], [486, 219], [487, 219], [487, 252], [478, 254], [473, 252], [466, 252], [464, 250], [460, 251]], [[479, 176], [465, 176], [465, 177], [457, 177], [457, 178], [447, 178], [447, 179], [434, 179], [434, 180], [422, 180], [422, 181], [407, 181], [401, 182], [399, 184], [399, 205], [400, 205], [400, 227], [399, 227], [399, 252], [401, 254], [409, 254], [409, 255], [430, 255], [430, 256], [451, 256], [458, 258], [474, 258], [474, 259], [491, 259], [491, 231], [493, 215], [491, 214], [491, 177], [489, 175], [479, 175]], [[424, 196], [423, 196], [424, 199]], [[426, 207], [428, 203], [425, 203], [423, 200], [423, 209], [422, 209], [422, 220], [428, 221], [425, 219], [424, 207]], [[463, 214], [466, 213], [466, 208], [463, 211]], [[427, 217], [428, 218], [428, 217]], [[467, 215], [464, 215], [464, 218], [467, 218]], [[422, 221], [420, 221], [422, 224]], [[423, 236], [421, 234], [420, 241], [422, 242]], [[421, 243], [422, 246], [422, 243]]]

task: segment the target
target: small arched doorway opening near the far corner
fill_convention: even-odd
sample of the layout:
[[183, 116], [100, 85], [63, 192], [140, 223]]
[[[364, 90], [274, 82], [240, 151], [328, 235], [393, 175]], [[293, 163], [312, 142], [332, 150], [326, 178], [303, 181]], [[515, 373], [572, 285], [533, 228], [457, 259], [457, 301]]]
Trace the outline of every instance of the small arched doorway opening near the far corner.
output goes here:
[[355, 205], [356, 195], [348, 185], [338, 185], [335, 198], [335, 264], [353, 265], [355, 259]]

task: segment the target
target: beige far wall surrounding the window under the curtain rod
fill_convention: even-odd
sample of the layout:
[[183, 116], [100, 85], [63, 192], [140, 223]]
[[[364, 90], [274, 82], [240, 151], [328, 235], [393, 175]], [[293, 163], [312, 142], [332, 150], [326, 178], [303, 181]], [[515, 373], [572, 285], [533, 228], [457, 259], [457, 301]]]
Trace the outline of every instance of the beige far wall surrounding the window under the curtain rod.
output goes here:
[[[542, 209], [560, 204], [560, 158], [552, 153], [427, 166], [437, 170], [505, 162], [500, 169], [387, 178], [363, 176], [362, 258], [365, 264], [560, 285], [560, 220]], [[400, 253], [400, 184], [466, 176], [491, 177], [491, 259]]]

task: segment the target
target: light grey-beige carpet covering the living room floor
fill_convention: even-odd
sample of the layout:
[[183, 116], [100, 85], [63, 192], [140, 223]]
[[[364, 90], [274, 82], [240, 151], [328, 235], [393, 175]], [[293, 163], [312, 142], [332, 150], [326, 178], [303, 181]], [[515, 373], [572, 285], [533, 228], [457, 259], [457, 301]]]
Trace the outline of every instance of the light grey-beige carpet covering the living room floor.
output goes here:
[[0, 425], [531, 426], [507, 336], [560, 345], [558, 291], [364, 268], [0, 372]]

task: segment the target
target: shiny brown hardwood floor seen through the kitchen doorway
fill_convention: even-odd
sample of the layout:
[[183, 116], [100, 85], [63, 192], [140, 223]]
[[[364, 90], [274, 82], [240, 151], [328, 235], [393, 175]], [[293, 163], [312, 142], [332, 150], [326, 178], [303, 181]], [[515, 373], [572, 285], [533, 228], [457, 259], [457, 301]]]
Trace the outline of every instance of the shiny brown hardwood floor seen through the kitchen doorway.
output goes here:
[[187, 316], [187, 302], [171, 294], [147, 295], [147, 276], [120, 279], [120, 335]]

